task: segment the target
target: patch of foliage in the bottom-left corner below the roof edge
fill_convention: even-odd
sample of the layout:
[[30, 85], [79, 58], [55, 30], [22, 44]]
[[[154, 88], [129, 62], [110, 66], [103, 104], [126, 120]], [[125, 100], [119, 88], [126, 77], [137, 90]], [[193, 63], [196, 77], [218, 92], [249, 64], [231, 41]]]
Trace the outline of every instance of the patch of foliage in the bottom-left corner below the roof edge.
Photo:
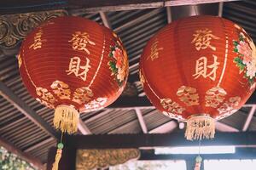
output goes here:
[[26, 161], [21, 160], [15, 154], [0, 147], [0, 169], [1, 170], [34, 170]]

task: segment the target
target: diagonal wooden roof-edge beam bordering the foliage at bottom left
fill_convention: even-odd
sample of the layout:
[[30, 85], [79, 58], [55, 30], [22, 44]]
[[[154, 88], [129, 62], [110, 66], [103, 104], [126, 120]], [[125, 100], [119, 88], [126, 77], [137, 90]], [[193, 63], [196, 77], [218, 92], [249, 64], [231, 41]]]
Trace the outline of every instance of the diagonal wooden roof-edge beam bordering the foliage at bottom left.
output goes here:
[[18, 149], [14, 144], [10, 144], [5, 139], [2, 139], [0, 137], [0, 145], [3, 146], [6, 150], [9, 150], [9, 152], [15, 154], [16, 156], [19, 156], [20, 159], [27, 161], [32, 165], [32, 167], [36, 167], [38, 169], [44, 169], [44, 165], [41, 161], [39, 161], [34, 156], [31, 156], [27, 153], [22, 152], [20, 149]]

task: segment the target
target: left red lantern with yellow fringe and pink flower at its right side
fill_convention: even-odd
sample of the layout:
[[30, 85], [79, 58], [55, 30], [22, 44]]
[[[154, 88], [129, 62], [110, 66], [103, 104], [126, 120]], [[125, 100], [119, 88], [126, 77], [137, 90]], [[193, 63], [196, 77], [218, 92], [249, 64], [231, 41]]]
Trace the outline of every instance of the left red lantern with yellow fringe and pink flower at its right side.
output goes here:
[[122, 93], [128, 58], [119, 37], [94, 21], [60, 17], [22, 43], [20, 75], [32, 96], [55, 109], [54, 125], [77, 131], [79, 112], [98, 110]]

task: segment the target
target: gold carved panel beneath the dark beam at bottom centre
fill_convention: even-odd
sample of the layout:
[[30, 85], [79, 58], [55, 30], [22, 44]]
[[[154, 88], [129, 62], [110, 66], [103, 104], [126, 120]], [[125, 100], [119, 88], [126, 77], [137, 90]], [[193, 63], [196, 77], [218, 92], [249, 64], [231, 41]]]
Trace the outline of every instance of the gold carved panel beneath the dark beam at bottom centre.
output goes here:
[[137, 149], [117, 150], [78, 150], [76, 159], [77, 170], [92, 170], [123, 164], [126, 161], [138, 159]]

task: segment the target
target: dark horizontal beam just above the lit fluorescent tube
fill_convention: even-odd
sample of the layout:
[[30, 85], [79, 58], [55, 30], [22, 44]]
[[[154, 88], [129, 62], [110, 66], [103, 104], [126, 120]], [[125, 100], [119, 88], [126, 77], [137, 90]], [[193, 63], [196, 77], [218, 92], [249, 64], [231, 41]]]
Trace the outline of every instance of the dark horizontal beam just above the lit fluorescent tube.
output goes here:
[[[75, 135], [68, 139], [78, 149], [138, 148], [157, 146], [197, 146], [198, 141], [184, 139], [184, 133]], [[214, 140], [202, 145], [256, 146], [256, 132], [216, 133]]]

